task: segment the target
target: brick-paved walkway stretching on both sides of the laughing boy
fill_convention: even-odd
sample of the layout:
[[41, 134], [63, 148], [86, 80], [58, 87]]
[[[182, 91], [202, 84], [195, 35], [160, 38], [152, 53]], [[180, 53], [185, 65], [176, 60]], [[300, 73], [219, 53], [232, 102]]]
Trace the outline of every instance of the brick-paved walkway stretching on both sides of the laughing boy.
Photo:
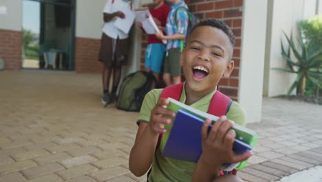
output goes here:
[[[322, 164], [322, 107], [264, 99], [245, 181]], [[100, 75], [0, 72], [0, 181], [144, 181], [128, 170], [135, 112], [100, 105]]]

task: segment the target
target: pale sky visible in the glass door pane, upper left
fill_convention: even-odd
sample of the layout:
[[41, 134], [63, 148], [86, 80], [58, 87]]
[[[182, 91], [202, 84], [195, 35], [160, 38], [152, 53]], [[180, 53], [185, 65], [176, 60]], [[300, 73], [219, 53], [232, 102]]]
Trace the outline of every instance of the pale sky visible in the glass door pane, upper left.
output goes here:
[[39, 34], [40, 3], [23, 0], [23, 28]]

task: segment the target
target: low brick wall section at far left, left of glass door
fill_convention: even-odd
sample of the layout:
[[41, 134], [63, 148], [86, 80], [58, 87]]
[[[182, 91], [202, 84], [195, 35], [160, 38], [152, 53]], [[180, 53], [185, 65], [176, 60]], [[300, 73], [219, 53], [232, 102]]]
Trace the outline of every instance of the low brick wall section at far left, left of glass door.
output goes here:
[[21, 32], [0, 29], [0, 57], [6, 70], [21, 70]]

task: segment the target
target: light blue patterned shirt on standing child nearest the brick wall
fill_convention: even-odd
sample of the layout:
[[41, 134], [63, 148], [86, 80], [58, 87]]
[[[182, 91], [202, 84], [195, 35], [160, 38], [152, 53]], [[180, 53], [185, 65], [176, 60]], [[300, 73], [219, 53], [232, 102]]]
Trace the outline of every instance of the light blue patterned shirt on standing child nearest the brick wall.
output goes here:
[[[188, 29], [188, 23], [189, 23], [188, 14], [186, 13], [185, 10], [178, 10], [177, 17], [175, 17], [175, 10], [180, 6], [183, 6], [184, 8], [189, 9], [188, 6], [186, 6], [186, 3], [184, 3], [184, 1], [180, 1], [180, 3], [176, 3], [175, 5], [171, 6], [171, 10], [169, 12], [167, 24], [166, 24], [167, 35], [176, 34], [176, 33], [186, 35], [187, 29]], [[174, 19], [177, 20], [177, 25], [175, 25]], [[180, 39], [168, 40], [167, 50], [171, 48], [180, 48]]]

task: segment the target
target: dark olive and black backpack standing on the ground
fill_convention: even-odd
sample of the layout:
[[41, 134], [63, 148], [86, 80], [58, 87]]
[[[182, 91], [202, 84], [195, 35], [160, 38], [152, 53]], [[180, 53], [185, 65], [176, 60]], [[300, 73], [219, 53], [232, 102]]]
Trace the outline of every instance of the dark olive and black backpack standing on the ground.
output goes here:
[[150, 72], [137, 71], [128, 74], [120, 85], [116, 108], [125, 111], [140, 111], [147, 92], [155, 88], [156, 80]]

